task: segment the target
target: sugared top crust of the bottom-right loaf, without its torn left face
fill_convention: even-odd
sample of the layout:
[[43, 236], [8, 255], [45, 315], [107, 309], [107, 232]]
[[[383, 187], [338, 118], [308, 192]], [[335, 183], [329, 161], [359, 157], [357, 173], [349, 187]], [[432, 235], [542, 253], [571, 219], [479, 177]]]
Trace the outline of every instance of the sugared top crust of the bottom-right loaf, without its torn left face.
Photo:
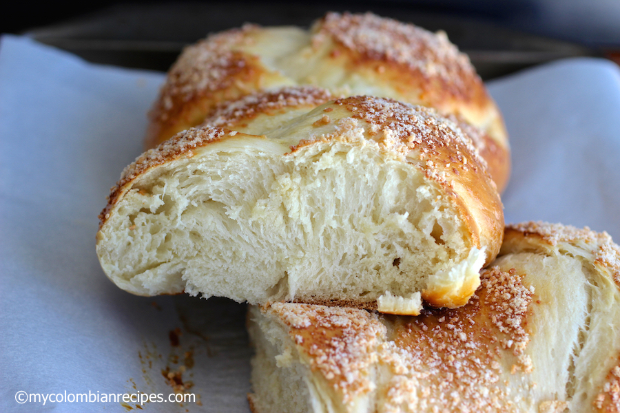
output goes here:
[[[506, 239], [512, 246], [502, 252], [513, 257], [482, 271], [482, 284], [466, 306], [426, 308], [418, 317], [367, 315], [365, 322], [375, 324], [378, 339], [362, 334], [358, 339], [363, 342], [356, 342], [355, 348], [368, 348], [376, 360], [375, 390], [364, 394], [371, 398], [371, 405], [380, 403], [385, 411], [405, 410], [406, 406], [406, 411], [413, 412], [620, 412], [619, 341], [615, 338], [620, 287], [604, 282], [620, 257], [618, 246], [606, 233], [544, 222], [510, 225]], [[577, 273], [569, 274], [561, 264], [548, 268], [552, 262], [562, 262], [548, 257], [541, 258], [540, 267], [532, 264], [535, 255], [545, 255], [550, 247], [562, 260], [573, 261]], [[606, 260], [599, 260], [601, 248], [607, 251]], [[504, 271], [513, 265], [517, 269]], [[566, 284], [550, 286], [551, 279]], [[566, 295], [570, 290], [575, 295]], [[588, 296], [581, 297], [585, 301], [594, 300], [582, 303], [586, 313], [555, 330], [559, 321], [580, 313], [577, 301], [582, 294]], [[323, 330], [337, 327], [351, 330], [341, 336], [369, 330], [366, 324], [347, 323], [348, 317], [364, 319], [359, 313], [342, 313], [344, 319], [330, 320], [326, 315], [333, 310], [323, 308], [322, 324], [313, 326], [306, 321], [316, 312], [313, 306], [280, 306], [274, 314], [281, 322], [285, 317], [293, 319], [285, 324], [291, 337], [291, 325], [296, 334], [303, 328], [309, 332], [304, 337], [311, 343], [304, 341], [298, 347], [301, 354], [309, 354], [306, 349], [312, 348], [310, 357], [320, 354], [316, 363], [327, 366], [331, 358], [349, 362], [360, 354], [349, 352], [344, 340], [312, 341], [324, 335]], [[271, 315], [270, 308], [262, 311]], [[567, 335], [572, 339], [566, 339]], [[329, 352], [321, 352], [327, 348]], [[368, 358], [366, 352], [359, 355], [359, 361]], [[364, 377], [361, 374], [352, 380], [363, 381]], [[313, 373], [312, 378], [320, 376]], [[334, 399], [347, 397], [347, 388], [330, 385]], [[351, 394], [349, 399], [358, 395]]]

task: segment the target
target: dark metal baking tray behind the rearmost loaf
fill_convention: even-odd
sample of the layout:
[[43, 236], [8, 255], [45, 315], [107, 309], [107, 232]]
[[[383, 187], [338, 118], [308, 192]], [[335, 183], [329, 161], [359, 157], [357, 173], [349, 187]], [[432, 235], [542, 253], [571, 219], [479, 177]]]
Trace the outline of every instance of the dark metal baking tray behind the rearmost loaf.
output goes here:
[[484, 80], [557, 59], [601, 56], [574, 43], [526, 34], [453, 14], [423, 12], [406, 3], [165, 3], [121, 5], [79, 19], [30, 30], [33, 39], [68, 50], [87, 61], [165, 71], [185, 45], [211, 32], [243, 23], [308, 27], [326, 12], [371, 10], [444, 30], [467, 53]]

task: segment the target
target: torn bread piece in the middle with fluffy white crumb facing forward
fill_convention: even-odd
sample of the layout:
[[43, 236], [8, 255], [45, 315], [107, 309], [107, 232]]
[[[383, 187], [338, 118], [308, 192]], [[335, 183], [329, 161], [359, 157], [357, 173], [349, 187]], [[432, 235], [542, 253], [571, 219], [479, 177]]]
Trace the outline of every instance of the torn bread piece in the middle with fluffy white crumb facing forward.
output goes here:
[[260, 136], [190, 129], [127, 167], [97, 234], [110, 279], [139, 295], [251, 304], [376, 308], [388, 292], [403, 297], [383, 300], [390, 313], [415, 314], [420, 298], [465, 304], [504, 226], [471, 139], [382, 98], [302, 112], [267, 116]]

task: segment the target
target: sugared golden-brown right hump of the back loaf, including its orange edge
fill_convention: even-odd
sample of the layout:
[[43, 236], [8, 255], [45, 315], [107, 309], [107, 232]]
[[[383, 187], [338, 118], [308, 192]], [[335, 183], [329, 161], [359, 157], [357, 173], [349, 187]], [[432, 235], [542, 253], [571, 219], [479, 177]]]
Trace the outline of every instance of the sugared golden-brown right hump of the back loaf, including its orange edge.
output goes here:
[[[329, 36], [338, 47], [333, 59], [348, 54], [352, 71], [381, 74], [378, 81], [397, 85], [404, 100], [440, 108], [453, 100], [486, 108], [489, 97], [466, 54], [445, 34], [378, 17], [372, 13], [328, 13], [315, 29], [314, 43]], [[415, 91], [411, 95], [411, 91]]]

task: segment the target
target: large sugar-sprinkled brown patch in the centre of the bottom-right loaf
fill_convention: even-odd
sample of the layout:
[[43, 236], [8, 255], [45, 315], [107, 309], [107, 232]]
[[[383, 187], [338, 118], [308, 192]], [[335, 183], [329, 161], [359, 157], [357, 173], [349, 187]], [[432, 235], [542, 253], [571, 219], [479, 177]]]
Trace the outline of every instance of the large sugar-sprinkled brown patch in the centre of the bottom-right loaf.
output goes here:
[[289, 326], [313, 370], [347, 401], [358, 393], [343, 383], [364, 382], [354, 389], [368, 391], [369, 372], [387, 369], [390, 377], [374, 376], [384, 378], [376, 385], [386, 411], [407, 405], [413, 411], [519, 412], [519, 394], [504, 380], [532, 370], [526, 325], [533, 289], [521, 279], [514, 270], [491, 268], [466, 306], [423, 310], [418, 317], [304, 304], [274, 304], [271, 311]]

